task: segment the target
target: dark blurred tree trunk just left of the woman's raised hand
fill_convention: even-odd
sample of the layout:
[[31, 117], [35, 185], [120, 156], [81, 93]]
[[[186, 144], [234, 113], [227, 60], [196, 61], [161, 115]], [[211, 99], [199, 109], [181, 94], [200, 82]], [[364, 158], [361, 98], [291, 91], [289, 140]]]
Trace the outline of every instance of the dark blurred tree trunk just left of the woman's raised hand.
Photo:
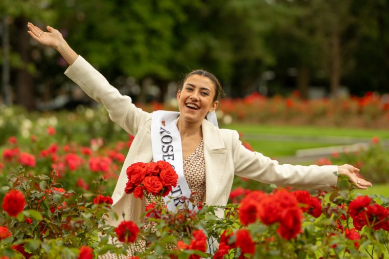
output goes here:
[[27, 21], [22, 17], [15, 21], [18, 36], [18, 53], [23, 62], [23, 66], [17, 71], [16, 94], [18, 104], [28, 110], [35, 109], [34, 81], [32, 75], [27, 71], [30, 63], [29, 55], [29, 35], [27, 33]]

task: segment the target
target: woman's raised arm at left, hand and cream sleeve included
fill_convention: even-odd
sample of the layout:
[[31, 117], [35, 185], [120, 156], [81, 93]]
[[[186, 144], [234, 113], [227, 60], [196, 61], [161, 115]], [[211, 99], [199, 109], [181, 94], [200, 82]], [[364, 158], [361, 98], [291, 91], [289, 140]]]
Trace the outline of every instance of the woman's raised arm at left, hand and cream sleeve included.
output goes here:
[[58, 30], [47, 26], [48, 32], [44, 32], [30, 22], [27, 26], [32, 38], [60, 52], [70, 65], [65, 74], [92, 99], [103, 104], [112, 121], [128, 133], [137, 134], [138, 129], [149, 119], [150, 113], [137, 108], [129, 96], [121, 95], [114, 86], [111, 86], [102, 74], [71, 49]]

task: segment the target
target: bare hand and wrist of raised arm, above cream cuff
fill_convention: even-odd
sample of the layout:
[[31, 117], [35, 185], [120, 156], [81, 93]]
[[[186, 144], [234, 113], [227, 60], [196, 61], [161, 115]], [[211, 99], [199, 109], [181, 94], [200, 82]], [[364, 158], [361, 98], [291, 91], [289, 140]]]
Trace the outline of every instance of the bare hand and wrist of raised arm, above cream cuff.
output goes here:
[[69, 65], [72, 65], [77, 59], [78, 54], [68, 45], [58, 30], [47, 25], [47, 32], [45, 32], [31, 22], [27, 23], [27, 27], [29, 29], [28, 34], [32, 38], [42, 45], [55, 48]]

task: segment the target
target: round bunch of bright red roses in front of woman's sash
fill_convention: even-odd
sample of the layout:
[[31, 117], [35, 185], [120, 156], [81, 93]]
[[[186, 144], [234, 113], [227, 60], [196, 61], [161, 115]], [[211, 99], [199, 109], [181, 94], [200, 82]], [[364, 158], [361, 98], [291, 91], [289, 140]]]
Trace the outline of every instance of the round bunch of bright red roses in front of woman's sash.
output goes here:
[[132, 164], [127, 168], [128, 182], [124, 191], [143, 197], [143, 191], [156, 196], [166, 196], [177, 186], [178, 175], [165, 161]]

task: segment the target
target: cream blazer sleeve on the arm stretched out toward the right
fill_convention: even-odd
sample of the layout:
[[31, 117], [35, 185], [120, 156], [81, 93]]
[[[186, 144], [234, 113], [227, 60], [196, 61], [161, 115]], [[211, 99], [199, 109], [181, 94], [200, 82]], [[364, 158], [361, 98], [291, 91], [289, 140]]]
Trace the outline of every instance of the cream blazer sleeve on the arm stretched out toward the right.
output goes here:
[[338, 181], [338, 166], [278, 164], [261, 153], [246, 149], [233, 133], [235, 174], [260, 182], [306, 189], [328, 189]]

